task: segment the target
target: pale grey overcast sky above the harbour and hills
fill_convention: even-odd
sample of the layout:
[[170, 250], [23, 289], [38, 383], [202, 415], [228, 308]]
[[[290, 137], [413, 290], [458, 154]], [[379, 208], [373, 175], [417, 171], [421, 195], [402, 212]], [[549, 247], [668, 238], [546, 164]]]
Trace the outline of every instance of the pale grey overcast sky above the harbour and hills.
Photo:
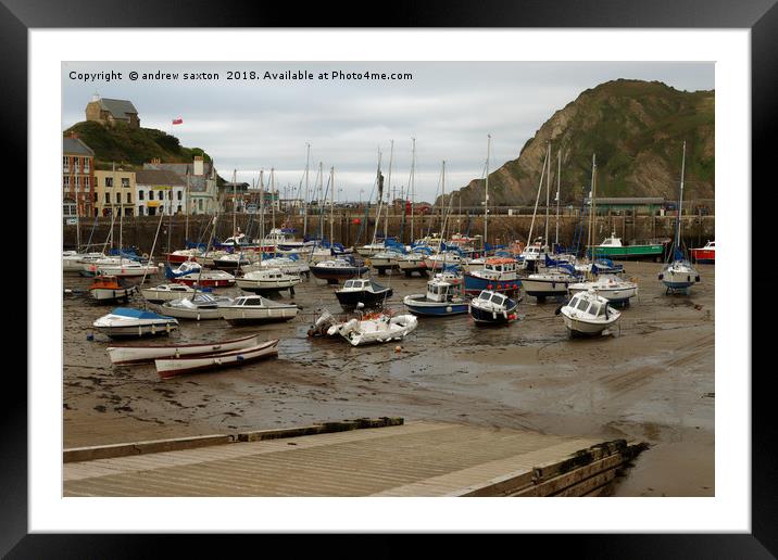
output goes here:
[[[412, 73], [413, 79], [331, 79], [344, 73]], [[122, 73], [103, 79], [99, 73]], [[174, 79], [129, 79], [130, 72], [177, 73]], [[255, 72], [259, 79], [227, 79], [229, 71]], [[265, 72], [306, 71], [312, 80], [262, 79]], [[216, 73], [218, 79], [184, 80], [184, 73]], [[71, 76], [75, 73], [75, 79]], [[318, 79], [330, 73], [330, 79]], [[79, 74], [98, 74], [97, 79]], [[175, 135], [183, 145], [204, 149], [219, 175], [259, 180], [276, 168], [284, 195], [303, 180], [311, 144], [310, 183], [322, 162], [327, 183], [335, 167], [339, 200], [369, 196], [378, 152], [391, 184], [409, 183], [411, 138], [416, 138], [416, 200], [431, 201], [439, 189], [441, 161], [446, 190], [484, 176], [487, 135], [492, 137], [490, 170], [518, 156], [522, 147], [551, 115], [578, 94], [617, 78], [658, 80], [677, 89], [714, 89], [713, 63], [549, 62], [378, 62], [378, 63], [181, 63], [78, 62], [63, 64], [63, 130], [85, 120], [95, 93], [130, 100], [146, 128]], [[181, 117], [181, 125], [173, 125]], [[342, 189], [342, 190], [341, 190]], [[363, 192], [360, 193], [360, 190]], [[374, 195], [375, 199], [375, 195]]]

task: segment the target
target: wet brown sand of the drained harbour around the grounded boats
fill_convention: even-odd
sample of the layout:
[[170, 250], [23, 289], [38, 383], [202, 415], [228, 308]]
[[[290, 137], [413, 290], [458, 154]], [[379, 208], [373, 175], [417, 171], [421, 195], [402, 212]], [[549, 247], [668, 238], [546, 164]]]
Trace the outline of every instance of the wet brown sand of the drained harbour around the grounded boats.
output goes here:
[[[88, 279], [66, 276], [64, 287], [75, 293], [64, 296], [64, 445], [397, 416], [643, 441], [651, 447], [613, 495], [713, 496], [714, 267], [700, 265], [702, 282], [689, 296], [665, 295], [660, 264], [625, 268], [640, 293], [612, 335], [570, 339], [554, 314], [560, 303], [525, 296], [519, 320], [507, 327], [479, 328], [467, 315], [421, 318], [399, 352], [396, 343], [351, 347], [341, 339], [306, 336], [316, 309], [342, 313], [334, 288], [312, 277], [296, 289], [302, 310], [290, 322], [181, 321], [178, 332], [156, 341], [261, 332], [280, 340], [277, 358], [166, 381], [153, 365], [111, 366], [110, 340], [88, 335], [112, 307], [90, 301]], [[397, 310], [402, 296], [425, 291], [419, 278], [376, 279], [394, 290]]]

